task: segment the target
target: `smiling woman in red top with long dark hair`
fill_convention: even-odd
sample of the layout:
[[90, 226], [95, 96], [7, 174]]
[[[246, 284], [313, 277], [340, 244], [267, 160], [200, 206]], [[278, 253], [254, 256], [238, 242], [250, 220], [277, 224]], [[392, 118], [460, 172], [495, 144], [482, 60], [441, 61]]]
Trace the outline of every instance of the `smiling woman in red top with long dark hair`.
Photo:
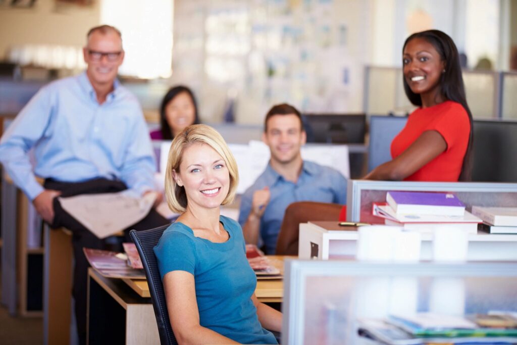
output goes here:
[[393, 139], [393, 159], [364, 178], [469, 181], [472, 114], [454, 42], [438, 30], [413, 34], [404, 42], [402, 61], [406, 95], [419, 108]]

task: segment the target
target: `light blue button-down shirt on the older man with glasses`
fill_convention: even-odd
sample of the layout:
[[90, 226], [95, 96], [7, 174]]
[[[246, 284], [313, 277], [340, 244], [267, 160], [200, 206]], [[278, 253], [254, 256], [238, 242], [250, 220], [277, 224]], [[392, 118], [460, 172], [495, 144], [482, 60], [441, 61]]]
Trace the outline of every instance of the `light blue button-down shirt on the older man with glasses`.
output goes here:
[[[27, 157], [35, 150], [36, 166]], [[99, 104], [86, 73], [44, 86], [0, 141], [0, 161], [31, 200], [35, 175], [63, 182], [118, 178], [138, 193], [155, 189], [155, 158], [138, 100], [115, 81]]]

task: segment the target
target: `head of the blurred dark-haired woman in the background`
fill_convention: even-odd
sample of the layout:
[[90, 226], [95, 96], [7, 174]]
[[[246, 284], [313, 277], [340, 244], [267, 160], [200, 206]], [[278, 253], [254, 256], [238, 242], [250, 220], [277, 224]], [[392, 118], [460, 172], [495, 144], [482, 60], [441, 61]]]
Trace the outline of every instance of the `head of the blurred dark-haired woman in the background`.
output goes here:
[[165, 94], [160, 106], [161, 128], [150, 133], [153, 140], [172, 140], [190, 125], [199, 124], [197, 105], [191, 89], [179, 85]]

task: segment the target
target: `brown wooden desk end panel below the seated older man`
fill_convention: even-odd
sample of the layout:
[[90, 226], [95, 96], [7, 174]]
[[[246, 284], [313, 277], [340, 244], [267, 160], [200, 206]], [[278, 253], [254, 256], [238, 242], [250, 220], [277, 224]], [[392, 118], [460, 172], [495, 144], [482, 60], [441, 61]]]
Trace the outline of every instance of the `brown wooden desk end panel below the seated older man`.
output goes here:
[[72, 236], [45, 224], [43, 343], [70, 343], [72, 301]]

